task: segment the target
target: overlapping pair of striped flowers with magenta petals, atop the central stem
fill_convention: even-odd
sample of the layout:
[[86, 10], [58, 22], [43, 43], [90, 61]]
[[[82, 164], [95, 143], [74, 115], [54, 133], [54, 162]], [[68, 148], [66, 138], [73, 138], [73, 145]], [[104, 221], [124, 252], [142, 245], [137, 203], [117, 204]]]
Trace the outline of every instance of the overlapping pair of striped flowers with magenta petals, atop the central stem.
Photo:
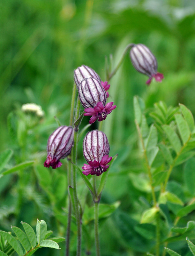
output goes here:
[[[82, 81], [81, 81], [82, 79]], [[113, 101], [106, 104], [109, 96], [106, 92], [110, 84], [102, 82], [98, 74], [85, 65], [74, 70], [74, 80], [78, 88], [79, 99], [85, 108], [84, 116], [92, 116], [89, 124], [102, 121], [116, 108]]]

